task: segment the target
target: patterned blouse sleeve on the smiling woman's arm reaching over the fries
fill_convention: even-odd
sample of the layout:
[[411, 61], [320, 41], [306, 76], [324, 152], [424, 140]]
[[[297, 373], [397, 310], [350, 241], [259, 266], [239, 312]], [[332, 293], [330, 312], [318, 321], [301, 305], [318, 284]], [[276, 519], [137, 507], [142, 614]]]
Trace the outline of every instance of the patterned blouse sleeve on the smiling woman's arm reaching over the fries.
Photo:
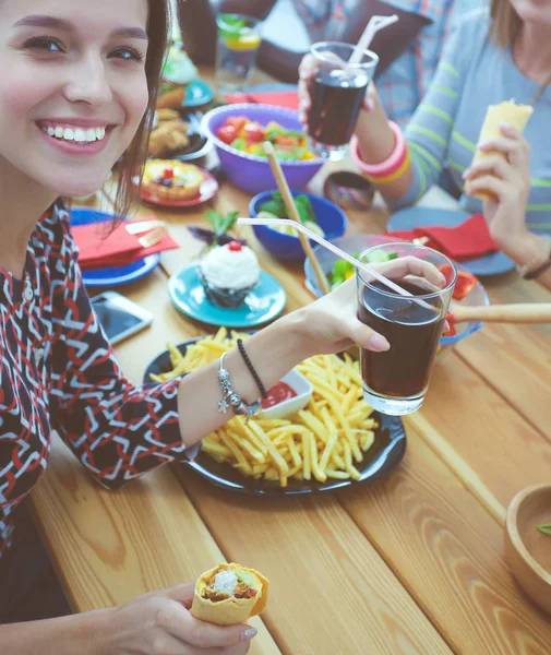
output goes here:
[[65, 212], [57, 211], [63, 260], [51, 285], [51, 424], [100, 484], [118, 488], [184, 458], [179, 380], [134, 386], [124, 378], [82, 283]]

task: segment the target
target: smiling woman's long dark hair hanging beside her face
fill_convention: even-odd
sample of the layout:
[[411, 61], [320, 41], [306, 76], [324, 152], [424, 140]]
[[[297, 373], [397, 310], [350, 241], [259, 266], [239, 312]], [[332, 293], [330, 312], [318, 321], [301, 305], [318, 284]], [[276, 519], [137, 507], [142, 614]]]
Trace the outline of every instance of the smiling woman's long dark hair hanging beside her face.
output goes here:
[[149, 17], [147, 21], [147, 35], [149, 44], [145, 61], [145, 74], [149, 102], [132, 143], [122, 155], [119, 164], [119, 184], [115, 198], [115, 221], [119, 223], [124, 218], [139, 199], [139, 190], [132, 184], [132, 177], [143, 169], [147, 156], [149, 133], [153, 129], [157, 91], [160, 72], [168, 46], [170, 29], [169, 0], [148, 0]]

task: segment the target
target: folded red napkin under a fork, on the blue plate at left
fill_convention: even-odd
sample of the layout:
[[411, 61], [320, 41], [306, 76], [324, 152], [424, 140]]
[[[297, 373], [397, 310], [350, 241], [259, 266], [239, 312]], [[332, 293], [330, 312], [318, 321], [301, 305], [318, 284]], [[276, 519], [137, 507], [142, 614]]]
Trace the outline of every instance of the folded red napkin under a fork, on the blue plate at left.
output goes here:
[[[145, 218], [134, 223], [141, 221]], [[82, 270], [123, 266], [148, 254], [179, 248], [169, 235], [154, 246], [144, 248], [139, 241], [139, 238], [144, 235], [131, 235], [125, 229], [124, 223], [110, 234], [108, 230], [109, 227], [103, 223], [71, 226], [71, 234], [79, 248], [79, 264]]]

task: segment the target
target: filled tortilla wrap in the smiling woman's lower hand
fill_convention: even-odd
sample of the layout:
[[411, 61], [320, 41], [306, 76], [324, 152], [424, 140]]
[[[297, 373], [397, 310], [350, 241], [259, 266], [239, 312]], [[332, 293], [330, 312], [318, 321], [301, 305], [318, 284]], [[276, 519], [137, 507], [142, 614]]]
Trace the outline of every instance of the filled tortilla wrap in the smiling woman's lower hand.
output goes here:
[[191, 614], [217, 626], [244, 623], [266, 607], [267, 588], [268, 581], [254, 569], [218, 564], [197, 580]]

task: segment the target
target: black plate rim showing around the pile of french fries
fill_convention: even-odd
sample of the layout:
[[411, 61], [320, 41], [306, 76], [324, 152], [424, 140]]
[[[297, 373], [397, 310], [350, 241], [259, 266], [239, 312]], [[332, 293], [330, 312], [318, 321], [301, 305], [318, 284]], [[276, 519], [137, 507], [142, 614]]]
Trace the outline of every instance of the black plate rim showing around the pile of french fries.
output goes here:
[[[197, 336], [190, 338], [177, 345], [182, 355], [189, 345], [204, 338]], [[144, 382], [151, 382], [149, 373], [164, 373], [171, 370], [170, 356], [168, 350], [164, 350], [147, 367], [144, 373]], [[279, 487], [275, 480], [255, 480], [245, 477], [237, 468], [227, 464], [219, 464], [212, 460], [207, 454], [201, 452], [194, 462], [184, 462], [184, 466], [191, 468], [216, 487], [240, 491], [242, 493], [252, 493], [254, 496], [295, 496], [298, 493], [320, 493], [321, 491], [332, 491], [345, 487], [354, 487], [358, 483], [367, 480], [376, 480], [386, 475], [397, 466], [404, 453], [406, 452], [406, 431], [404, 424], [397, 416], [386, 416], [375, 412], [373, 417], [380, 427], [375, 431], [375, 441], [366, 453], [361, 462], [355, 462], [356, 468], [361, 474], [359, 480], [327, 480], [319, 483], [318, 480], [296, 480], [289, 478], [288, 486], [285, 489]]]

